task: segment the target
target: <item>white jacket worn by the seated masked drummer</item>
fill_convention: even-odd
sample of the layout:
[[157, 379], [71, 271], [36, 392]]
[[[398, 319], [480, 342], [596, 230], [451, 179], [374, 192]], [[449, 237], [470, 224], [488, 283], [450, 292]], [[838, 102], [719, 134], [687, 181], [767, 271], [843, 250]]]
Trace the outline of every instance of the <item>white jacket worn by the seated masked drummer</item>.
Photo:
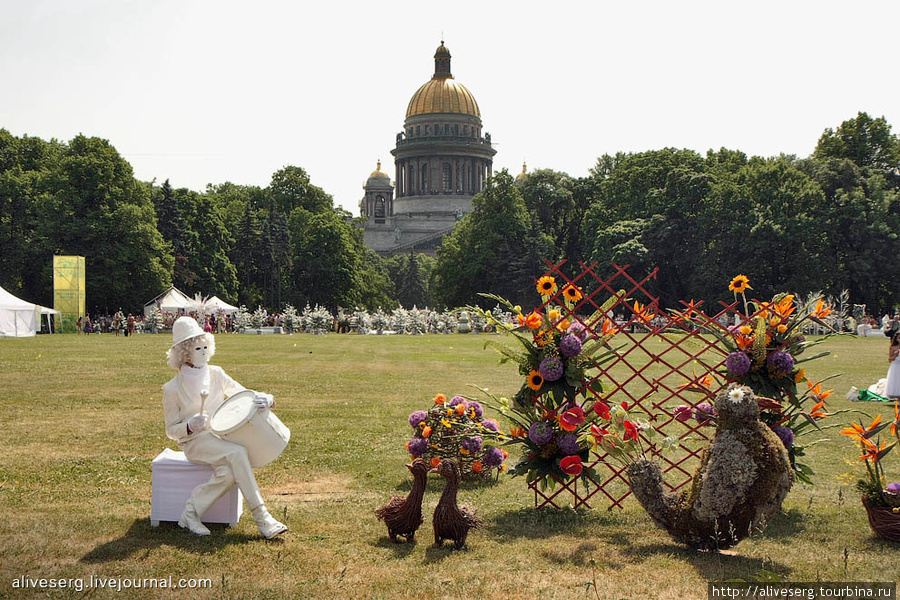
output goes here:
[[[179, 445], [192, 439], [187, 433], [187, 422], [200, 412], [200, 394], [191, 394], [182, 379], [179, 372], [163, 386], [166, 435]], [[212, 416], [225, 398], [230, 398], [243, 389], [244, 386], [229, 377], [222, 367], [209, 365], [209, 397], [204, 411]]]

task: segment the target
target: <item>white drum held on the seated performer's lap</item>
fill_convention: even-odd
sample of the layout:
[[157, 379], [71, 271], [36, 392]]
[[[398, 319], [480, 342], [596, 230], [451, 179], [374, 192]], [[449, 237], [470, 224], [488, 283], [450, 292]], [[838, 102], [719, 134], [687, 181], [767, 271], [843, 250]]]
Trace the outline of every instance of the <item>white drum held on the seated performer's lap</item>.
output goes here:
[[287, 447], [291, 430], [271, 410], [259, 410], [253, 400], [256, 392], [243, 390], [225, 400], [212, 418], [212, 432], [247, 449], [250, 466], [264, 467]]

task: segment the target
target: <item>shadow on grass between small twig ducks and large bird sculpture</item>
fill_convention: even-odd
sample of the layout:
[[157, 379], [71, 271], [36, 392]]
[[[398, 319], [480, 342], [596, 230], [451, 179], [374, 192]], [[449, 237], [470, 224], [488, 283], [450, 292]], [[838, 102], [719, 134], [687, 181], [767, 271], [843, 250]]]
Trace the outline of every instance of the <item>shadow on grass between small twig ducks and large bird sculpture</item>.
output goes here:
[[610, 513], [571, 508], [520, 508], [505, 511], [486, 522], [482, 527], [498, 537], [546, 538], [559, 534], [577, 534], [611, 525], [615, 518]]

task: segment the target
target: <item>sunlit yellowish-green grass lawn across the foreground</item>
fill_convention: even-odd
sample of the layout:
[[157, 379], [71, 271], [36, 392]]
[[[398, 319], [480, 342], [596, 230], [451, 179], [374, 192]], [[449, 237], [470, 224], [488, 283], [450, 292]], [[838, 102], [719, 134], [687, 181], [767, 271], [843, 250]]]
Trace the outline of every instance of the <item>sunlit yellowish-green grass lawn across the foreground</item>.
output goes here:
[[[165, 365], [169, 335], [0, 340], [0, 597], [706, 598], [709, 580], [761, 571], [790, 581], [900, 579], [900, 544], [871, 533], [846, 477], [861, 474], [857, 452], [836, 430], [808, 457], [816, 485], [795, 485], [768, 530], [727, 554], [673, 543], [632, 498], [624, 510], [535, 511], [524, 480], [508, 476], [460, 491], [484, 520], [468, 551], [430, 547], [437, 479], [418, 543], [390, 543], [372, 511], [409, 489], [409, 413], [436, 392], [472, 393], [470, 383], [499, 394], [519, 386], [514, 366], [482, 350], [485, 339], [218, 336], [212, 362], [274, 394], [292, 431], [284, 454], [257, 471], [270, 511], [290, 527], [271, 542], [247, 513], [204, 538], [173, 523], [150, 527], [150, 461], [175, 448], [161, 408], [161, 386], [174, 374]], [[885, 376], [885, 338], [843, 337], [825, 348], [832, 355], [807, 370], [843, 373], [825, 386], [835, 390], [832, 410], [892, 414], [844, 399], [851, 385]], [[900, 480], [900, 469], [893, 474]], [[190, 594], [12, 587], [20, 576], [92, 575], [213, 585]]]

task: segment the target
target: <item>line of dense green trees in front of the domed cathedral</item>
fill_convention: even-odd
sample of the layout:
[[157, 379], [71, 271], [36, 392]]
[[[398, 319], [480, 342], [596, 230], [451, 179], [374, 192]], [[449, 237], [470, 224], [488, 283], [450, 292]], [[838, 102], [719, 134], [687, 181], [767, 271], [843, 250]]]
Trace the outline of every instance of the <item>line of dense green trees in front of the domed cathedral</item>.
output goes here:
[[381, 257], [300, 167], [196, 192], [136, 180], [106, 140], [0, 129], [0, 286], [52, 304], [52, 256], [75, 254], [89, 310], [137, 311], [173, 284], [274, 310], [452, 307], [483, 291], [531, 304], [545, 261], [568, 259], [659, 267], [670, 305], [728, 299], [744, 273], [760, 297], [848, 289], [883, 311], [900, 299], [898, 167], [890, 125], [859, 113], [807, 158], [665, 148], [601, 156], [584, 177], [502, 171], [435, 257]]

